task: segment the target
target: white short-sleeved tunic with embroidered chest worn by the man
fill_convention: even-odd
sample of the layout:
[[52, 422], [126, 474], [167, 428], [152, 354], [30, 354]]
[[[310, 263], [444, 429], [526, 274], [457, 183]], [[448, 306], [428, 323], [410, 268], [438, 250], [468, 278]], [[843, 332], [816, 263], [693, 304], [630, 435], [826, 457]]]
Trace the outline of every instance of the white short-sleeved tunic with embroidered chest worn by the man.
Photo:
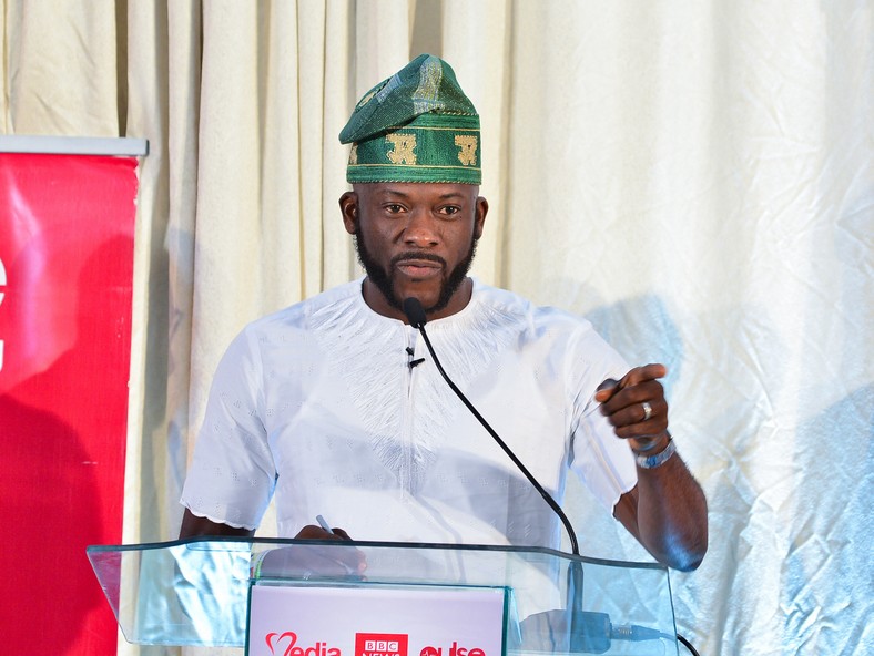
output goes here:
[[[559, 502], [569, 469], [609, 510], [633, 488], [631, 452], [592, 401], [628, 366], [588, 321], [475, 281], [468, 306], [426, 330]], [[418, 331], [369, 309], [360, 280], [251, 324], [218, 366], [182, 503], [254, 529], [274, 492], [284, 537], [323, 514], [356, 540], [560, 544], [558, 519]]]

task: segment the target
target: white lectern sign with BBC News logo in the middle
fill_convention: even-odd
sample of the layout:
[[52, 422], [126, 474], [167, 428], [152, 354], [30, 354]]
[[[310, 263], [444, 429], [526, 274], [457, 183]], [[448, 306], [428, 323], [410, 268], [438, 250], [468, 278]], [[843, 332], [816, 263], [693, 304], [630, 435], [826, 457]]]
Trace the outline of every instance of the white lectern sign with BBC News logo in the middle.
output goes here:
[[253, 585], [248, 656], [502, 656], [502, 587]]

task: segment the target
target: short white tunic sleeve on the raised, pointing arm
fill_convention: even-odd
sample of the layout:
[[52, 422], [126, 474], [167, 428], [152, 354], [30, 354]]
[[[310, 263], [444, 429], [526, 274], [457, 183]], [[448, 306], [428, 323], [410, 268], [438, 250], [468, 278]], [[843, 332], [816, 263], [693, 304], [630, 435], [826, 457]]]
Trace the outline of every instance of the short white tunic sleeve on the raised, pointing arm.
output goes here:
[[624, 440], [598, 410], [598, 386], [619, 380], [630, 369], [624, 359], [591, 326], [578, 335], [571, 348], [572, 389], [577, 391], [571, 423], [571, 469], [594, 496], [612, 512], [619, 498], [638, 482], [634, 458]]

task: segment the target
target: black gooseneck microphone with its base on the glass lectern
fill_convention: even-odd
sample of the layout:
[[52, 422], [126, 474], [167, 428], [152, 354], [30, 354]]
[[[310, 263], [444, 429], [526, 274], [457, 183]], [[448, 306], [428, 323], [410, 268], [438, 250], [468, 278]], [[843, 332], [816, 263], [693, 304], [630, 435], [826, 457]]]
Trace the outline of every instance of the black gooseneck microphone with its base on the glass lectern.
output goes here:
[[[558, 515], [558, 519], [561, 520], [561, 523], [565, 525], [565, 530], [568, 533], [568, 537], [570, 539], [571, 552], [573, 555], [579, 556], [580, 549], [577, 542], [577, 534], [573, 531], [573, 526], [570, 524], [570, 520], [565, 514], [565, 511], [561, 510], [561, 506], [558, 504], [558, 502], [556, 502], [552, 495], [547, 492], [547, 490], [540, 484], [533, 474], [528, 471], [528, 468], [525, 467], [522, 461], [519, 460], [516, 453], [514, 453], [512, 449], [510, 449], [509, 445], [507, 445], [507, 443], [500, 438], [500, 435], [495, 432], [495, 429], [491, 428], [488, 421], [486, 421], [486, 419], [479, 413], [479, 411], [467, 399], [461, 390], [458, 389], [458, 386], [453, 382], [453, 380], [444, 370], [437, 353], [434, 352], [434, 347], [431, 346], [430, 339], [428, 339], [428, 334], [425, 331], [425, 324], [428, 322], [428, 319], [425, 316], [425, 308], [421, 307], [419, 299], [414, 297], [404, 299], [403, 309], [407, 320], [409, 321], [409, 325], [421, 334], [421, 338], [425, 340], [425, 346], [428, 348], [428, 352], [430, 353], [434, 363], [437, 366], [437, 370], [440, 372], [440, 376], [443, 376], [444, 380], [451, 388], [455, 394], [461, 400], [461, 402], [474, 414], [474, 417], [476, 417], [479, 423], [482, 424], [482, 428], [485, 428], [486, 431], [495, 439], [498, 445], [509, 457], [519, 471], [525, 474], [525, 478], [528, 479], [528, 482], [530, 482], [531, 485], [533, 485], [533, 488], [540, 493], [540, 496], [543, 498], [549, 508]], [[407, 349], [407, 352], [410, 357], [413, 357], [413, 352], [410, 352], [410, 350], [411, 349]], [[410, 361], [410, 369], [420, 363], [423, 360], [424, 358], [420, 360]], [[673, 639], [673, 636], [662, 634], [656, 629], [643, 626], [613, 626], [610, 622], [610, 617], [607, 614], [583, 611], [582, 578], [582, 563], [580, 561], [571, 561], [568, 564], [568, 607], [566, 611], [559, 612], [559, 616], [556, 617], [556, 624], [562, 625], [563, 631], [567, 632], [571, 652], [602, 654], [610, 648], [611, 639], [633, 642], [659, 639], [662, 637]], [[548, 612], [548, 615], [553, 615], [553, 612]]]

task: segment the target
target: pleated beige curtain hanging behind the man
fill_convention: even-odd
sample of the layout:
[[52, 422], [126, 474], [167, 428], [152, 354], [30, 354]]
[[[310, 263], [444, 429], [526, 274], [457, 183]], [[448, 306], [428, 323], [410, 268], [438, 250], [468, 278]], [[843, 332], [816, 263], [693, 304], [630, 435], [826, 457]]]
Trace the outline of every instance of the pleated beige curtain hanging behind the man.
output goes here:
[[[672, 431], [711, 506], [704, 564], [672, 575], [680, 633], [702, 654], [874, 649], [870, 1], [3, 8], [6, 134], [150, 142], [126, 542], [175, 536], [236, 331], [358, 275], [336, 135], [429, 51], [482, 115], [476, 275], [670, 368]], [[571, 492], [587, 553], [646, 558]]]

